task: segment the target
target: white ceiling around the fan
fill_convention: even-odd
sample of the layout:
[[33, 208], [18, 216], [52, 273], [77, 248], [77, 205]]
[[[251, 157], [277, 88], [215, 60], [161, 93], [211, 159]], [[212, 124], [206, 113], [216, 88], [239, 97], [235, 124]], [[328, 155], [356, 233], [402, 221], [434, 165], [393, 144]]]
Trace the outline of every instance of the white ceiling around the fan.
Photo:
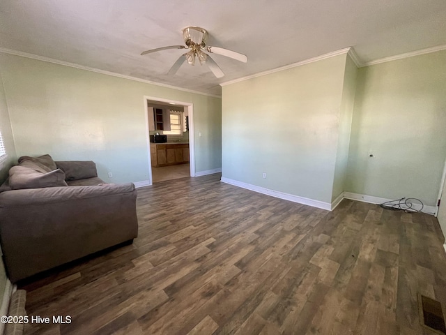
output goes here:
[[[362, 63], [446, 45], [445, 0], [1, 0], [0, 48], [220, 95], [221, 82], [352, 46]], [[183, 64], [181, 29], [208, 30], [225, 76]]]

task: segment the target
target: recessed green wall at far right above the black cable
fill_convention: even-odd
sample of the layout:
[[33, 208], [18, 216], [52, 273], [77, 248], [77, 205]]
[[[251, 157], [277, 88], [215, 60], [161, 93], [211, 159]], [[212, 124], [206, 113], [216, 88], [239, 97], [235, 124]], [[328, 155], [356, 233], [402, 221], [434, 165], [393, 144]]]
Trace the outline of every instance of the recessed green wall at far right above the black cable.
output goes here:
[[436, 205], [445, 130], [446, 51], [360, 68], [345, 191]]

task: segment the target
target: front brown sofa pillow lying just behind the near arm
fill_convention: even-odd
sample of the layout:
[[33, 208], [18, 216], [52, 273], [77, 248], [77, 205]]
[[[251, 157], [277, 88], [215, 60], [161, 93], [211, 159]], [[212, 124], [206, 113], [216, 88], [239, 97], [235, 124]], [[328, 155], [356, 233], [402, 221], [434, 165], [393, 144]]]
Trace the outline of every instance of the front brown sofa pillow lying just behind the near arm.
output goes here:
[[20, 165], [10, 168], [9, 185], [13, 190], [68, 186], [65, 174], [60, 169], [43, 173]]

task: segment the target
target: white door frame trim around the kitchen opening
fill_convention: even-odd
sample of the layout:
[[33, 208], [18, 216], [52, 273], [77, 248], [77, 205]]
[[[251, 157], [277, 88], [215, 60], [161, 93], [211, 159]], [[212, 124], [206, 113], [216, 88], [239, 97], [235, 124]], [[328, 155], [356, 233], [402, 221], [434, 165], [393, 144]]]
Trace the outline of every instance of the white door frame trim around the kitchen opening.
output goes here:
[[144, 96], [144, 119], [146, 120], [146, 142], [148, 154], [148, 185], [153, 184], [152, 179], [152, 159], [151, 159], [151, 141], [148, 131], [148, 101], [159, 101], [160, 103], [172, 103], [187, 108], [189, 116], [189, 164], [190, 177], [195, 177], [195, 141], [194, 141], [194, 104], [185, 101], [176, 101], [166, 98], [158, 98], [156, 96]]

